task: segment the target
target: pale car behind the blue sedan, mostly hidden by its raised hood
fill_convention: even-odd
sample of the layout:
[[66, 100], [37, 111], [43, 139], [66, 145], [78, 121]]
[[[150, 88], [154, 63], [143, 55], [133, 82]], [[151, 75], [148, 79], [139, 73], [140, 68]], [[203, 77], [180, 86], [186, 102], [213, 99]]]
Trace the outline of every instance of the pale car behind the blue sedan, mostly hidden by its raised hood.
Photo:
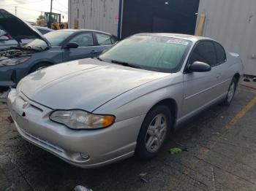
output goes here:
[[[41, 34], [47, 34], [53, 29], [41, 27], [41, 26], [33, 26], [37, 29]], [[21, 39], [21, 45], [28, 44], [34, 39]], [[18, 42], [15, 39], [12, 39], [12, 36], [8, 35], [7, 32], [0, 29], [0, 50], [7, 49], [9, 47], [17, 47]]]

